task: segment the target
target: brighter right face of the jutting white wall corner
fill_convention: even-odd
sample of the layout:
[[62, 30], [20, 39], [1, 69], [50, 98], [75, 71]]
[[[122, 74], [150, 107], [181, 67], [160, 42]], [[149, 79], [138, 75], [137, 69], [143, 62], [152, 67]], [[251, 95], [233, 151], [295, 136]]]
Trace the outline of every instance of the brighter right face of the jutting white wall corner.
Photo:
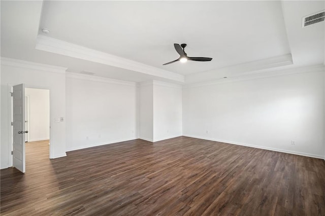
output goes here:
[[153, 140], [182, 135], [182, 87], [153, 82]]

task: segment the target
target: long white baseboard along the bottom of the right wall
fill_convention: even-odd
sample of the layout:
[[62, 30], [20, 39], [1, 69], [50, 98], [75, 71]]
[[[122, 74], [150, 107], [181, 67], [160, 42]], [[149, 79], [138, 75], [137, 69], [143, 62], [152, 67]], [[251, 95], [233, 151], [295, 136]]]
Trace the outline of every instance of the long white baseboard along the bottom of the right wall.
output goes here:
[[270, 151], [275, 151], [275, 152], [288, 153], [288, 154], [293, 154], [293, 155], [307, 156], [307, 157], [311, 157], [311, 158], [325, 159], [325, 157], [322, 155], [314, 155], [314, 154], [309, 154], [309, 153], [304, 153], [304, 152], [295, 152], [295, 151], [289, 151], [289, 150], [284, 150], [284, 149], [276, 149], [276, 148], [270, 148], [270, 147], [264, 147], [264, 146], [255, 146], [255, 145], [250, 145], [250, 144], [241, 143], [241, 142], [234, 142], [234, 141], [221, 140], [221, 139], [215, 139], [215, 138], [207, 138], [207, 137], [202, 137], [202, 136], [193, 136], [193, 135], [188, 135], [188, 134], [183, 134], [183, 136], [188, 136], [188, 137], [198, 138], [198, 139], [206, 139], [206, 140], [217, 141], [217, 142], [224, 142], [224, 143], [228, 143], [228, 144], [252, 147], [252, 148], [256, 148], [256, 149], [264, 149], [264, 150], [270, 150]]

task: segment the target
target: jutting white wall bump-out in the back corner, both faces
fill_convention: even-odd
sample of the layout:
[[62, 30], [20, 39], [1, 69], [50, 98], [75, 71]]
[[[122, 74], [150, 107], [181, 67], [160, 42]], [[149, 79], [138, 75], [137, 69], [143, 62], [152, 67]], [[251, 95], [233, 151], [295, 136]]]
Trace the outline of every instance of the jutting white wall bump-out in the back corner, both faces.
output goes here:
[[182, 135], [182, 87], [156, 80], [140, 83], [139, 137], [159, 141]]

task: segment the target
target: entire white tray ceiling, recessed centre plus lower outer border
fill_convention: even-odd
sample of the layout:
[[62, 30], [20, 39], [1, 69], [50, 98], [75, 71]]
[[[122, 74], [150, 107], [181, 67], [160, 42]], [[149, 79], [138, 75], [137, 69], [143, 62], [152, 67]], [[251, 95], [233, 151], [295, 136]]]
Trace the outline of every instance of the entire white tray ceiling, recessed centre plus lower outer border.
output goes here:
[[[323, 64], [324, 22], [301, 28], [301, 18], [324, 8], [323, 1], [2, 1], [1, 56], [135, 82], [157, 79], [182, 83], [184, 78], [201, 82], [228, 72], [233, 75], [232, 68], [240, 74], [241, 65], [246, 71], [247, 65], [256, 69], [261, 62], [276, 66], [292, 61], [292, 66]], [[47, 37], [69, 47], [94, 51], [89, 53], [101, 51], [110, 58], [117, 56], [114, 60], [126, 59], [128, 65], [139, 62], [144, 71], [35, 49], [43, 27], [50, 29]], [[174, 43], [187, 43], [188, 56], [213, 60], [163, 66], [179, 57]], [[291, 63], [281, 64], [283, 59]], [[275, 60], [279, 64], [274, 64]], [[149, 70], [152, 73], [146, 72]], [[161, 76], [164, 73], [166, 76]]]

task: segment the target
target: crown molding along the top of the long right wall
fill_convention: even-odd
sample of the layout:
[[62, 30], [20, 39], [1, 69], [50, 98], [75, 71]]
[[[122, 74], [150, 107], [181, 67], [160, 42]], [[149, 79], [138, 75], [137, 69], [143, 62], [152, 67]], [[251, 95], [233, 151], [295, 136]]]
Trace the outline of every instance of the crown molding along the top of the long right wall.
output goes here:
[[268, 71], [265, 73], [255, 72], [255, 73], [244, 74], [242, 76], [237, 76], [237, 77], [232, 77], [232, 78], [227, 78], [227, 79], [219, 78], [219, 79], [216, 79], [213, 81], [208, 81], [208, 82], [185, 84], [185, 85], [183, 85], [183, 89], [224, 84], [224, 83], [241, 82], [241, 81], [247, 81], [247, 80], [256, 80], [256, 79], [263, 79], [263, 78], [269, 78], [269, 77], [288, 76], [288, 75], [303, 74], [303, 73], [325, 73], [325, 66], [324, 65], [311, 65], [311, 66], [305, 66], [305, 67], [295, 67], [295, 68], [290, 68], [290, 69]]

